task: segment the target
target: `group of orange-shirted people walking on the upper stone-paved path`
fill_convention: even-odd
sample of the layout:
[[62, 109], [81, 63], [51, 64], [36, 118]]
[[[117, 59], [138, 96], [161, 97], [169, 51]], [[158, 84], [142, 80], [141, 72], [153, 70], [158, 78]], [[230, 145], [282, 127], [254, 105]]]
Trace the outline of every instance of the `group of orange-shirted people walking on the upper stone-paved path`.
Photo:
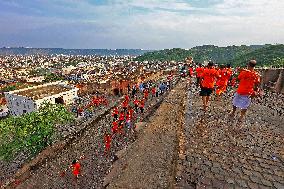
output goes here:
[[[235, 70], [229, 64], [214, 66], [213, 62], [209, 62], [205, 67], [199, 64], [195, 69], [196, 85], [200, 87], [204, 112], [208, 111], [210, 96], [213, 92], [216, 93], [216, 100], [221, 101], [221, 96], [229, 88], [234, 90], [237, 87], [229, 118], [233, 119], [237, 108], [239, 108], [241, 109], [241, 115], [238, 118], [238, 124], [242, 124], [247, 109], [251, 104], [251, 99], [262, 94], [259, 88], [260, 74], [254, 70], [255, 66], [255, 60], [250, 60], [247, 68], [237, 68]], [[190, 70], [189, 73], [191, 73]]]

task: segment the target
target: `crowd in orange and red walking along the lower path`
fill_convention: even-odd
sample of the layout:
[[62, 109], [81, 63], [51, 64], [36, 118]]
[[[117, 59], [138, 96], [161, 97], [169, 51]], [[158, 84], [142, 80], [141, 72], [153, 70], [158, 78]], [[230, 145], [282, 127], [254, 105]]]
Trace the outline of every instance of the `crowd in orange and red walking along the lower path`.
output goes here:
[[[131, 134], [135, 135], [136, 123], [142, 121], [144, 115], [151, 108], [150, 102], [155, 102], [166, 91], [171, 89], [173, 77], [173, 74], [169, 74], [167, 78], [160, 81], [148, 80], [127, 86], [127, 92], [125, 94], [119, 93], [121, 98], [116, 98], [114, 105], [110, 105], [108, 98], [103, 94], [93, 94], [88, 97], [89, 100], [85, 99], [84, 103], [81, 102], [82, 100], [77, 101], [72, 110], [75, 115], [85, 117], [89, 116], [87, 112], [95, 112], [100, 106], [112, 107], [111, 120], [106, 122], [102, 131], [103, 155], [108, 158], [111, 155], [111, 147], [114, 144], [118, 142], [123, 143], [123, 140], [127, 140]], [[75, 180], [80, 175], [81, 166], [79, 160], [73, 160], [69, 167], [72, 169]], [[64, 176], [64, 173], [62, 175]]]

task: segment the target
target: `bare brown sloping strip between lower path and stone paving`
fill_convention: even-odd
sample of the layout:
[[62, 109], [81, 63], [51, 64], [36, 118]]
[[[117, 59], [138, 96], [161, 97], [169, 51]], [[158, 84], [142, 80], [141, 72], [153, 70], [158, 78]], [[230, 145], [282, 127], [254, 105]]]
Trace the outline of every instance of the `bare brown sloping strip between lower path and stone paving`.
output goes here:
[[160, 105], [141, 135], [117, 160], [107, 188], [169, 188], [175, 183], [177, 128], [183, 117], [185, 84], [179, 83]]

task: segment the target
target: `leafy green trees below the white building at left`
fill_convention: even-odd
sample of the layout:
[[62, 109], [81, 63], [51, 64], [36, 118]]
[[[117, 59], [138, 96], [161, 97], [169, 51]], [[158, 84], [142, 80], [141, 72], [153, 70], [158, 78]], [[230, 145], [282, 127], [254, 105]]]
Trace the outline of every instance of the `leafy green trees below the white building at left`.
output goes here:
[[73, 119], [64, 106], [44, 104], [37, 112], [0, 121], [0, 158], [9, 161], [21, 151], [38, 154], [53, 141], [55, 124]]

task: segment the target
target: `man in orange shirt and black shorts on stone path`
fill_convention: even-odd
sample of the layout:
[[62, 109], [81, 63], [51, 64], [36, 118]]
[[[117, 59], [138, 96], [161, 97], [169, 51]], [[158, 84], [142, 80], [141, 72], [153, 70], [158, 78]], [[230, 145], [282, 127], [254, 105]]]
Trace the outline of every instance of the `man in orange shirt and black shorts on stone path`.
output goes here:
[[219, 77], [219, 74], [215, 68], [213, 68], [213, 62], [209, 62], [207, 67], [201, 74], [201, 91], [203, 110], [207, 111], [209, 97], [213, 92], [215, 80]]

